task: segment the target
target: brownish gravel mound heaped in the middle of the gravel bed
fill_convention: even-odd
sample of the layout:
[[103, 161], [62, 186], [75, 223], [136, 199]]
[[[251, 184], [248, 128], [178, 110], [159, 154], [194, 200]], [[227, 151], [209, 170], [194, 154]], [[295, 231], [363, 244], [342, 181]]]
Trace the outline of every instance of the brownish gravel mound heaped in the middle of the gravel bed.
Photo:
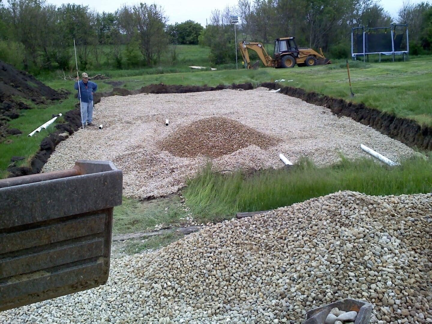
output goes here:
[[267, 149], [278, 139], [224, 117], [211, 117], [195, 121], [175, 130], [160, 142], [162, 149], [179, 157], [199, 155], [216, 158], [249, 145]]

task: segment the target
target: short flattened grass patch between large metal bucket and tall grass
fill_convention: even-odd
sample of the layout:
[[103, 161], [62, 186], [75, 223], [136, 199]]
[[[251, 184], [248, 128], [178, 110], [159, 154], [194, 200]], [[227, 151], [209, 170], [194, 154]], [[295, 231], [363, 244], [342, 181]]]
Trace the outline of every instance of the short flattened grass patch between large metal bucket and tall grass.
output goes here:
[[123, 197], [122, 205], [114, 208], [113, 233], [144, 232], [157, 224], [175, 225], [187, 216], [179, 203], [178, 196], [146, 202]]

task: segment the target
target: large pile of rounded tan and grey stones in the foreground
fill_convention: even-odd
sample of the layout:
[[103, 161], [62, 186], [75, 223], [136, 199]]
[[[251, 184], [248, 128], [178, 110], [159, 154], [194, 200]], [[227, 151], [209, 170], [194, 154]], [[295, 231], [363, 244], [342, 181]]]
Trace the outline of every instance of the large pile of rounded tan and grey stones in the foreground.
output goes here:
[[0, 322], [301, 323], [342, 298], [373, 323], [432, 323], [432, 194], [343, 191], [112, 260], [107, 285]]

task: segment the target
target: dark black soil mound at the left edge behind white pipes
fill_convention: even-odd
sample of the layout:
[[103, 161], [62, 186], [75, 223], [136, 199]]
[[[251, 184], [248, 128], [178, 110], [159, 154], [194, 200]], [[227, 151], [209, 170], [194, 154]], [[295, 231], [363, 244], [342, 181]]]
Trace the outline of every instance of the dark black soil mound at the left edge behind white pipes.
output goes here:
[[34, 76], [0, 61], [0, 140], [9, 134], [21, 133], [20, 130], [9, 129], [7, 126], [8, 121], [19, 117], [19, 110], [31, 109], [20, 98], [41, 105], [66, 98], [67, 95], [68, 92], [51, 89]]

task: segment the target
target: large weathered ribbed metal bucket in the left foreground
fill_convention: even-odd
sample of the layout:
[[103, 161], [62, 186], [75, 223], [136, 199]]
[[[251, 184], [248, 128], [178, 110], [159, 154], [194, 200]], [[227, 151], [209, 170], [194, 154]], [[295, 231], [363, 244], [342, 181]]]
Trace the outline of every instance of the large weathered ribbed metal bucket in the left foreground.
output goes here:
[[123, 174], [109, 161], [0, 180], [0, 311], [106, 283]]

